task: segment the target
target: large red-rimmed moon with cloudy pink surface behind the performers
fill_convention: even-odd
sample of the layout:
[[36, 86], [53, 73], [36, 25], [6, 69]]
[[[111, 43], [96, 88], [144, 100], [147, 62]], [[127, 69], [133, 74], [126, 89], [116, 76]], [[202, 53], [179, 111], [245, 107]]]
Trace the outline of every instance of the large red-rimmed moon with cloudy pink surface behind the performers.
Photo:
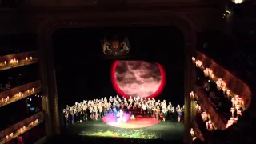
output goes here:
[[123, 97], [154, 98], [165, 86], [160, 64], [145, 61], [115, 61], [111, 71], [114, 89]]

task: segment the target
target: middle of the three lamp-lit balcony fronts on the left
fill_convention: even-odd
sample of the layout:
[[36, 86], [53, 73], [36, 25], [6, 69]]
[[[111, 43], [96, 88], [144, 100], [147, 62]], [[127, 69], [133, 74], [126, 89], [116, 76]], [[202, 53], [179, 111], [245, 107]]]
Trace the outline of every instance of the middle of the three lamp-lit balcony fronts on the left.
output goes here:
[[41, 81], [31, 82], [0, 93], [0, 107], [41, 92]]

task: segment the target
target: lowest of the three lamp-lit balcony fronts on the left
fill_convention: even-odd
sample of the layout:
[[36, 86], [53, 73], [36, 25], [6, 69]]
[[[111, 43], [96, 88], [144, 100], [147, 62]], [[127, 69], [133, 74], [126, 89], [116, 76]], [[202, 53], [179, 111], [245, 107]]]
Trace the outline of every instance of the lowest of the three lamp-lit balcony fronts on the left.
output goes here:
[[43, 120], [44, 114], [40, 111], [30, 118], [26, 118], [25, 120], [8, 127], [6, 130], [2, 130], [0, 132], [0, 143], [6, 143], [17, 138], [19, 135], [26, 133], [27, 130], [32, 129], [34, 126], [38, 126]]

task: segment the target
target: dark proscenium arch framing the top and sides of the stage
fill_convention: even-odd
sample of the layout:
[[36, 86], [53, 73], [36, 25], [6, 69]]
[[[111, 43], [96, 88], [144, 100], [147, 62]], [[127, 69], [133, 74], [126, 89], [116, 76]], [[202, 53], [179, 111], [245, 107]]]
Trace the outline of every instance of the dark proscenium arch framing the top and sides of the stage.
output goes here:
[[[146, 15], [145, 15], [146, 14]], [[54, 32], [61, 28], [95, 28], [102, 26], [118, 27], [118, 26], [174, 26], [182, 30], [185, 45], [184, 45], [184, 98], [185, 98], [185, 135], [184, 142], [189, 143], [191, 116], [190, 116], [190, 90], [194, 83], [194, 70], [190, 59], [194, 54], [196, 46], [196, 27], [194, 23], [186, 16], [166, 15], [166, 14], [136, 14], [136, 15], [114, 15], [105, 14], [97, 18], [90, 16], [77, 18], [75, 16], [55, 18], [46, 18], [38, 28], [38, 47], [41, 51], [41, 71], [42, 71], [42, 91], [43, 97], [43, 110], [45, 110], [46, 134], [59, 134], [60, 133], [60, 117], [58, 110], [58, 94], [56, 75], [54, 68], [54, 52], [51, 43], [51, 37]], [[96, 17], [96, 18], [95, 18]], [[106, 22], [101, 23], [101, 19]], [[115, 22], [118, 18], [119, 22]], [[120, 21], [120, 18], [121, 21]], [[170, 55], [171, 56], [171, 55]]]

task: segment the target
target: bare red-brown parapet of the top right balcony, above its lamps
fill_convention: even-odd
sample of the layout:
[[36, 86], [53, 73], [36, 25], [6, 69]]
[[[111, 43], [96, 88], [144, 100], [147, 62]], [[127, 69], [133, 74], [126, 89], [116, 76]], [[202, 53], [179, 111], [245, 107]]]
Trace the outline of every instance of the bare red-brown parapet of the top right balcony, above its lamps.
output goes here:
[[201, 52], [197, 51], [194, 58], [196, 60], [200, 60], [202, 62], [202, 66], [212, 70], [214, 78], [221, 78], [226, 83], [227, 89], [229, 89], [232, 94], [239, 95], [239, 97], [243, 99], [243, 105], [245, 106], [245, 109], [248, 109], [250, 106], [252, 93], [249, 86], [247, 86], [245, 82], [234, 76], [234, 74], [230, 74], [228, 70], [224, 69], [222, 66], [218, 65], [211, 58], [207, 57]]

